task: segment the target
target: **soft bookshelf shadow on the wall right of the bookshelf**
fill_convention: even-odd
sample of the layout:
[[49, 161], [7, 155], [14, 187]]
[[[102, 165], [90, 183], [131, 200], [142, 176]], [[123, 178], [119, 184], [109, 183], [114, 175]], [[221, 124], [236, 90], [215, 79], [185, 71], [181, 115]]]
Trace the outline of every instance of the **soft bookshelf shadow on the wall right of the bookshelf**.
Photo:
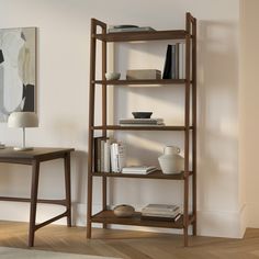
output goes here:
[[199, 209], [237, 210], [237, 24], [199, 22]]

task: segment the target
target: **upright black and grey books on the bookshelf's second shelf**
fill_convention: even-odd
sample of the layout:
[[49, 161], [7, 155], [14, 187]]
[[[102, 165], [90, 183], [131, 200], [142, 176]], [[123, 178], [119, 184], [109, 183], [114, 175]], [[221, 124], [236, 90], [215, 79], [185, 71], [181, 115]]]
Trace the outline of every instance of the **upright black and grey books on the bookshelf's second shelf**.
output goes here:
[[185, 78], [185, 44], [177, 43], [167, 46], [162, 79]]

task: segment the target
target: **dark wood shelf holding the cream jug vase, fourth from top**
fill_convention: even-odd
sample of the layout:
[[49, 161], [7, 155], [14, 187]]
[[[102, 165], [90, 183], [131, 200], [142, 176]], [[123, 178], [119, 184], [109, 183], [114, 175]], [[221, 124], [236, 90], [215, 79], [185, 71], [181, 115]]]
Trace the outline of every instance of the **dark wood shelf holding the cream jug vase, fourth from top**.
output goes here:
[[[192, 171], [187, 173], [187, 177], [192, 176]], [[165, 174], [161, 170], [149, 172], [148, 174], [122, 173], [122, 172], [92, 172], [94, 177], [114, 177], [114, 178], [143, 178], [143, 179], [165, 179], [165, 180], [184, 180], [184, 172], [176, 174]]]

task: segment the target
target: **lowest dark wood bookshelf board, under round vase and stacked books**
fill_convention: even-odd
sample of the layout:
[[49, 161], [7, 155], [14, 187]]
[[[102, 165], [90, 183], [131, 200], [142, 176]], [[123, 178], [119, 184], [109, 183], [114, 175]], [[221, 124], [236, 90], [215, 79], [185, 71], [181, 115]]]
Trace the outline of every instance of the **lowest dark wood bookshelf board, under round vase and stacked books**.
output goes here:
[[[139, 212], [135, 212], [132, 217], [116, 217], [113, 211], [101, 211], [91, 217], [92, 223], [106, 223], [119, 225], [136, 225], [166, 228], [183, 228], [183, 216], [177, 222], [143, 219]], [[189, 225], [194, 222], [194, 216], [189, 215]]]

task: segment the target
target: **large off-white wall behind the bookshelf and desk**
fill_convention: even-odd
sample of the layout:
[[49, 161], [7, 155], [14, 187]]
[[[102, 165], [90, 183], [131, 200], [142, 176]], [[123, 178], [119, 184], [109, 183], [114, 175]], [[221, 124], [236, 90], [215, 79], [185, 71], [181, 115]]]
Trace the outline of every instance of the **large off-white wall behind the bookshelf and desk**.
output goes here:
[[[199, 234], [239, 237], [238, 1], [111, 0], [108, 3], [101, 0], [0, 0], [1, 27], [38, 27], [41, 126], [27, 131], [27, 143], [33, 146], [71, 146], [77, 149], [72, 156], [72, 201], [77, 224], [85, 224], [86, 218], [90, 18], [108, 24], [128, 23], [170, 30], [184, 27], [185, 11], [198, 18], [199, 25]], [[140, 68], [142, 64], [162, 69], [166, 43], [149, 43], [147, 49], [136, 44], [115, 47], [117, 70]], [[117, 54], [122, 55], [119, 57]], [[120, 106], [120, 112], [115, 113], [115, 117], [143, 109], [154, 111], [154, 115], [162, 115], [168, 124], [182, 122], [182, 89], [171, 87], [161, 93], [159, 88], [154, 88], [147, 92], [145, 89], [131, 88], [127, 92], [123, 88], [116, 89], [115, 108]], [[132, 133], [119, 137], [128, 142], [132, 161], [137, 161], [138, 155], [143, 154], [144, 161], [156, 164], [164, 145], [182, 147], [180, 133], [176, 136], [166, 133], [162, 137], [157, 133]], [[15, 145], [21, 139], [21, 133], [1, 124], [0, 138], [8, 145]], [[55, 161], [43, 166], [42, 196], [63, 195], [63, 178], [57, 173], [59, 164]], [[1, 193], [29, 194], [27, 167], [0, 165], [0, 169], [3, 170], [0, 172]], [[100, 206], [100, 182], [95, 181], [95, 187], [94, 209]], [[114, 180], [111, 187], [112, 204], [131, 203], [138, 207], [149, 202], [182, 202], [182, 185], [179, 182]], [[0, 218], [27, 218], [27, 205], [18, 204], [14, 209], [3, 203], [3, 206]], [[52, 211], [56, 212], [56, 209], [52, 206]], [[45, 206], [41, 206], [38, 218], [46, 218], [48, 212]]]

